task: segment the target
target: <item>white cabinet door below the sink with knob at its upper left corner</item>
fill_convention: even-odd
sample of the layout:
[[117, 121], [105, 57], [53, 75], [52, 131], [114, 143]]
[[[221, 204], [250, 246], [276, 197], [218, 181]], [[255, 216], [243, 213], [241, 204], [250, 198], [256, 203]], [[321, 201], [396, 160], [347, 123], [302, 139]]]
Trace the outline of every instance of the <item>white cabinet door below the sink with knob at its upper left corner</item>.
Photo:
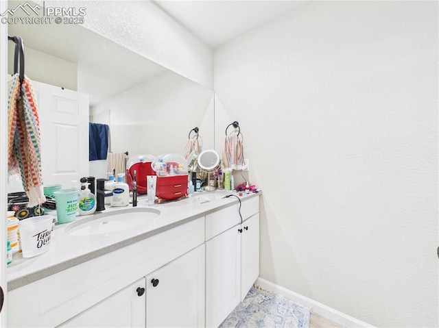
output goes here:
[[204, 244], [146, 277], [146, 327], [204, 327]]

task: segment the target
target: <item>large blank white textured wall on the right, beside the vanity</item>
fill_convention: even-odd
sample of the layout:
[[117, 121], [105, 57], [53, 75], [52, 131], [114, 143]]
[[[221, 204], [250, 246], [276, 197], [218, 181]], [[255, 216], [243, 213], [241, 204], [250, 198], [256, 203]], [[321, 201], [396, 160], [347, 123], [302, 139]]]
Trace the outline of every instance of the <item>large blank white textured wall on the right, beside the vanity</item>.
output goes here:
[[437, 327], [438, 3], [322, 1], [215, 51], [217, 148], [263, 190], [261, 277], [379, 327]]

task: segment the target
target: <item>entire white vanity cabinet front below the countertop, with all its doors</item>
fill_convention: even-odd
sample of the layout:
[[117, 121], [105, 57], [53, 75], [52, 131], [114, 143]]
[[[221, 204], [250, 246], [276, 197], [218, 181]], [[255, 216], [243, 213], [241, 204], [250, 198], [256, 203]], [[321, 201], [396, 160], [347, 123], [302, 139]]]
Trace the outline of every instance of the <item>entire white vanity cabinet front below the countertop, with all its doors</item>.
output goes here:
[[92, 260], [49, 267], [55, 273], [8, 292], [8, 327], [217, 327], [259, 275], [259, 197], [241, 201], [242, 223], [239, 203], [222, 203]]

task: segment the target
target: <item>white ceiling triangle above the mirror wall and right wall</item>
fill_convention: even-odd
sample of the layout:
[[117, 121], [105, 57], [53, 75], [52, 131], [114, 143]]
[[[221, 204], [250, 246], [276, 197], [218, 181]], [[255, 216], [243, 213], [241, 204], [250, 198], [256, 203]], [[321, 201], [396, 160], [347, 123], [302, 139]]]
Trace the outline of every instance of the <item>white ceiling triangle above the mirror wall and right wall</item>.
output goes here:
[[154, 0], [212, 49], [311, 1]]

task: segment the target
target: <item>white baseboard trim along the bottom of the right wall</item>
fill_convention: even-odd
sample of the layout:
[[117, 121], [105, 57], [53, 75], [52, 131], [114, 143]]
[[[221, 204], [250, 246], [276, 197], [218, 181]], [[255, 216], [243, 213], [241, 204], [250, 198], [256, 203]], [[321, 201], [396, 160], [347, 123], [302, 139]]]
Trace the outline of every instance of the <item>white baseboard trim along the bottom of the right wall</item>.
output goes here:
[[353, 318], [352, 316], [348, 316], [347, 314], [334, 310], [332, 307], [318, 303], [313, 299], [309, 299], [308, 297], [293, 292], [292, 290], [288, 290], [287, 288], [283, 288], [282, 286], [276, 285], [276, 283], [272, 283], [271, 281], [265, 280], [261, 277], [258, 277], [254, 284], [265, 290], [269, 290], [270, 292], [275, 292], [276, 294], [285, 297], [285, 299], [289, 299], [290, 301], [294, 301], [304, 307], [308, 307], [311, 313], [324, 316], [325, 318], [332, 320], [334, 323], [338, 323], [346, 328], [375, 328], [368, 323], [364, 323], [363, 321]]

